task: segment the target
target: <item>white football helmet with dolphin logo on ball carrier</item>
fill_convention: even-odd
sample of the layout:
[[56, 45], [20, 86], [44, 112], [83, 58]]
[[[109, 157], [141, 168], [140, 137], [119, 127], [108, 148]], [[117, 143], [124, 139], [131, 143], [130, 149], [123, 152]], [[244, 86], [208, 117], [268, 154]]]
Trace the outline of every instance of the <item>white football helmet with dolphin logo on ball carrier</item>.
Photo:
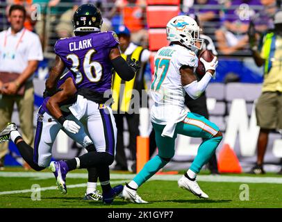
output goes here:
[[200, 31], [201, 28], [192, 17], [178, 15], [167, 23], [167, 40], [180, 42], [192, 51], [201, 50], [204, 40], [199, 38]]

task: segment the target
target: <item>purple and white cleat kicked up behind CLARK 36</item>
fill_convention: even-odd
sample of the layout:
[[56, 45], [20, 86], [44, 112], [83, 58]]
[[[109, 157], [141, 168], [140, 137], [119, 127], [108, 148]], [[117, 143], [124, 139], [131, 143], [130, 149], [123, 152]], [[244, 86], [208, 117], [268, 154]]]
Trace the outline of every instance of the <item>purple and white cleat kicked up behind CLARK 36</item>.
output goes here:
[[67, 194], [67, 186], [65, 185], [65, 178], [69, 169], [69, 167], [67, 167], [67, 163], [63, 160], [52, 161], [49, 169], [51, 169], [56, 178], [56, 184], [58, 189], [60, 189], [60, 192], [62, 194]]

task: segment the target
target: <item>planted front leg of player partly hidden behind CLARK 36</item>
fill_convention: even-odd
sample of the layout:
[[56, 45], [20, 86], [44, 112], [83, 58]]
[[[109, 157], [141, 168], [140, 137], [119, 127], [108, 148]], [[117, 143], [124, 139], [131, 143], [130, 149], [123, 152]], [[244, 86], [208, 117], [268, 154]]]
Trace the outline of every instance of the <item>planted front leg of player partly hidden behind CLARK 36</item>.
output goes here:
[[[69, 114], [66, 119], [75, 121], [78, 126], [81, 126], [78, 133], [70, 133], [68, 130], [62, 130], [75, 142], [80, 144], [88, 152], [96, 152], [96, 148], [88, 135], [81, 121], [78, 121], [73, 114]], [[102, 196], [97, 189], [98, 174], [96, 168], [88, 168], [88, 183], [83, 200], [101, 200]]]

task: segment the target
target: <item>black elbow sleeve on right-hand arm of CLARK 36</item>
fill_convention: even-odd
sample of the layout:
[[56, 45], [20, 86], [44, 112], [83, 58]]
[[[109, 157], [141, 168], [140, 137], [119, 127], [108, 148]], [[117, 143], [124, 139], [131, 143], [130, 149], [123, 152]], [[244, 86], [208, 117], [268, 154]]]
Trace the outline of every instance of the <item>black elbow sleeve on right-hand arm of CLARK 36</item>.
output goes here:
[[134, 78], [135, 71], [128, 65], [128, 63], [126, 62], [126, 60], [124, 60], [124, 58], [122, 58], [122, 56], [119, 56], [110, 61], [112, 62], [112, 65], [120, 78], [126, 81]]

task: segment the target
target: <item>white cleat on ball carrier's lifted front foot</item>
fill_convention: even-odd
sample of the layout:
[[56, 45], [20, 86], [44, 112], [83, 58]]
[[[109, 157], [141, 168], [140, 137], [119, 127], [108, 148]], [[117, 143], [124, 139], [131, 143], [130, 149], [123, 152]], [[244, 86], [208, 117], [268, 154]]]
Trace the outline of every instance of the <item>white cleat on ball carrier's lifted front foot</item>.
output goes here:
[[187, 189], [198, 198], [208, 198], [208, 195], [201, 190], [196, 180], [192, 181], [186, 178], [185, 176], [182, 176], [179, 179], [179, 187]]

